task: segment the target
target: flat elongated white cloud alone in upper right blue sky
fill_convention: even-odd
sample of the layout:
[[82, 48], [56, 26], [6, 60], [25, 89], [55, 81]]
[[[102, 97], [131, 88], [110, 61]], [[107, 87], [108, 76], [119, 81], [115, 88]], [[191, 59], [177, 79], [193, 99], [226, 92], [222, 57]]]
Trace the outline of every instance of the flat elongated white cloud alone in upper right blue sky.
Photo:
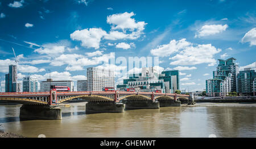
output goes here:
[[195, 38], [218, 34], [220, 32], [225, 31], [226, 28], [228, 28], [227, 24], [223, 26], [221, 24], [204, 25], [203, 27], [200, 28], [200, 30], [197, 31]]

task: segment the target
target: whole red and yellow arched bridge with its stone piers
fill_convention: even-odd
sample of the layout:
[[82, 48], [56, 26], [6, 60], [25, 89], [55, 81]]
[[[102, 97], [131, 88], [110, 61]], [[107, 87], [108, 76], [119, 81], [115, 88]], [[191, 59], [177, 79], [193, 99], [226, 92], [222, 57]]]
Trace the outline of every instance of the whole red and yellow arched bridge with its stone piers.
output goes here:
[[[188, 101], [189, 95], [155, 92], [17, 92], [0, 93], [0, 101], [23, 104], [20, 118], [61, 119], [61, 109], [57, 105], [76, 98], [86, 104], [86, 114], [123, 112], [123, 109], [156, 109], [162, 106], [180, 106], [180, 101]], [[47, 113], [48, 112], [48, 113]], [[48, 117], [51, 115], [51, 118]], [[53, 115], [53, 116], [52, 116]]]

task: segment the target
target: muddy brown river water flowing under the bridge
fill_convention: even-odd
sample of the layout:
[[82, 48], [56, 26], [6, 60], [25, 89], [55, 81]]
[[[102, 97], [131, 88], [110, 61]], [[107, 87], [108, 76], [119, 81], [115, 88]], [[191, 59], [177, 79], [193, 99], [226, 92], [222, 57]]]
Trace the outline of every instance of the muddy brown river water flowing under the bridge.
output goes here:
[[61, 106], [61, 120], [19, 120], [20, 105], [0, 105], [0, 130], [38, 137], [256, 137], [256, 104], [195, 106], [85, 114], [85, 102]]

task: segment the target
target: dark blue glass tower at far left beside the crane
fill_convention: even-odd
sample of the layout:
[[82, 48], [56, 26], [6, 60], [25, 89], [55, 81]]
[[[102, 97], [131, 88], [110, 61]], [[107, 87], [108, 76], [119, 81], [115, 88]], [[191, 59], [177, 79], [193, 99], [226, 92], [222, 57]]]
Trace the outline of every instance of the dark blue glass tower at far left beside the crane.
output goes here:
[[18, 69], [16, 65], [9, 65], [9, 73], [5, 74], [5, 92], [20, 92]]

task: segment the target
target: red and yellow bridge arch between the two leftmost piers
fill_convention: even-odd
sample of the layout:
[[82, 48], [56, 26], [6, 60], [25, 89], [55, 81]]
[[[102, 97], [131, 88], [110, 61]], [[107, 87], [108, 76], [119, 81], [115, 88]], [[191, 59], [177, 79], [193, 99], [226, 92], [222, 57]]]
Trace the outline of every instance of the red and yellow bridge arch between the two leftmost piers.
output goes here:
[[58, 101], [58, 103], [73, 100], [75, 98], [82, 98], [87, 101], [114, 101], [112, 98], [109, 98], [109, 97], [94, 95], [94, 94], [92, 94], [92, 95], [86, 94], [86, 95], [81, 95], [81, 96], [68, 97], [68, 98], [65, 98], [64, 100]]

